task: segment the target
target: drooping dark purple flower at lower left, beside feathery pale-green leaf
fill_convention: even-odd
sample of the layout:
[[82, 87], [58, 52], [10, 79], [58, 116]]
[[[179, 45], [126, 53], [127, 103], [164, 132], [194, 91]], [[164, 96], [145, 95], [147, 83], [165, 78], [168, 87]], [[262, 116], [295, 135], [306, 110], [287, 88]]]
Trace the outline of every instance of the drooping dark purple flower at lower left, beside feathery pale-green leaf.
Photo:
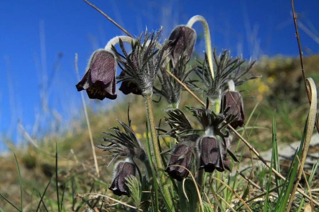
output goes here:
[[126, 177], [130, 175], [135, 176], [136, 168], [131, 162], [121, 161], [115, 165], [113, 171], [112, 184], [108, 187], [115, 195], [127, 195], [130, 196], [130, 190], [126, 185]]

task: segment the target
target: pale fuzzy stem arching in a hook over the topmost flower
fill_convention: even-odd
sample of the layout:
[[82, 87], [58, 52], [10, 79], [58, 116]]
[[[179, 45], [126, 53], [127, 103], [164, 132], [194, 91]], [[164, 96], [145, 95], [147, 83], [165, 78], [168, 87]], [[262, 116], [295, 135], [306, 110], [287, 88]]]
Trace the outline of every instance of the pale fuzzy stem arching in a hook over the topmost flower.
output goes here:
[[187, 22], [187, 26], [192, 27], [197, 21], [199, 21], [204, 28], [206, 52], [207, 52], [208, 63], [209, 63], [208, 65], [211, 70], [211, 77], [214, 79], [213, 56], [211, 54], [211, 34], [209, 32], [209, 27], [208, 27], [206, 19], [203, 16], [199, 16], [199, 15], [193, 16]]

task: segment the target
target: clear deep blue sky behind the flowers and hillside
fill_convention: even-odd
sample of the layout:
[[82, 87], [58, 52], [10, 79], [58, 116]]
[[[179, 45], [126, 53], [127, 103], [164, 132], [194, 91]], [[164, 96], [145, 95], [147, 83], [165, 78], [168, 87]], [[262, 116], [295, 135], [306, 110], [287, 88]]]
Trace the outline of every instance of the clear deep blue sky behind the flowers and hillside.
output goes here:
[[[210, 25], [212, 45], [219, 50], [230, 49], [234, 55], [243, 54], [244, 58], [298, 55], [289, 0], [92, 0], [92, 3], [134, 35], [145, 26], [155, 30], [162, 25], [165, 38], [175, 25], [186, 24], [193, 15], [202, 15]], [[318, 8], [319, 1], [295, 0], [300, 21], [316, 36], [319, 36]], [[4, 0], [0, 2], [0, 20], [1, 150], [4, 138], [21, 140], [17, 133], [18, 120], [32, 135], [33, 131], [45, 131], [44, 128], [54, 130], [48, 124], [51, 119], [61, 119], [65, 124], [82, 113], [81, 96], [75, 88], [78, 80], [74, 54], [79, 55], [82, 75], [91, 53], [123, 33], [81, 0]], [[201, 35], [201, 25], [194, 27]], [[303, 47], [312, 53], [319, 52], [318, 43], [302, 30], [300, 37]], [[196, 50], [202, 53], [203, 40], [198, 39]], [[63, 54], [60, 59], [59, 53]], [[44, 112], [42, 88], [46, 89], [48, 102]], [[86, 99], [86, 102], [95, 105], [94, 100]], [[109, 103], [103, 101], [100, 106], [108, 107]], [[34, 123], [39, 114], [42, 115], [38, 129]]]

